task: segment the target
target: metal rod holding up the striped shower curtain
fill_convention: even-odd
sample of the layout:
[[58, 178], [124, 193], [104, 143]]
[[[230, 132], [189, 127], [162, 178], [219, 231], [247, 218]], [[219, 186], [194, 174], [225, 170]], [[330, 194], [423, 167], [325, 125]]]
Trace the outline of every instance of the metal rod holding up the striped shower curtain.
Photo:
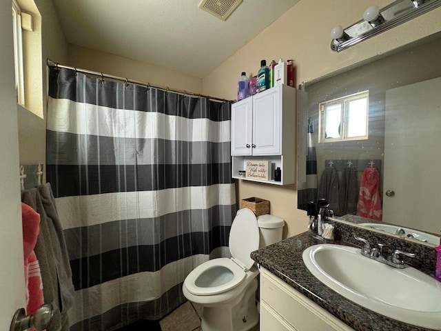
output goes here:
[[134, 80], [127, 79], [127, 78], [124, 78], [124, 77], [113, 76], [112, 74], [103, 74], [103, 72], [96, 72], [96, 71], [92, 71], [92, 70], [81, 69], [81, 68], [76, 68], [76, 67], [71, 67], [71, 66], [63, 66], [63, 65], [61, 65], [61, 64], [59, 64], [57, 62], [52, 61], [51, 59], [47, 59], [47, 63], [48, 63], [48, 67], [57, 67], [57, 68], [65, 68], [65, 69], [75, 70], [77, 72], [82, 72], [84, 74], [93, 74], [94, 76], [98, 76], [98, 77], [101, 77], [101, 78], [110, 78], [110, 79], [113, 79], [115, 81], [122, 81], [122, 82], [125, 82], [125, 83], [131, 83], [131, 84], [138, 85], [138, 86], [143, 86], [143, 87], [146, 87], [146, 88], [158, 88], [159, 90], [172, 91], [172, 92], [176, 92], [176, 93], [179, 93], [179, 94], [191, 95], [191, 96], [194, 96], [194, 97], [207, 98], [207, 99], [212, 99], [212, 100], [216, 100], [216, 101], [230, 101], [232, 103], [236, 102], [236, 100], [221, 99], [221, 98], [211, 97], [209, 95], [188, 92], [188, 91], [185, 91], [185, 90], [178, 90], [176, 88], [169, 88], [168, 86], [161, 86], [161, 85], [156, 85], [156, 84], [144, 83], [142, 81], [134, 81]]

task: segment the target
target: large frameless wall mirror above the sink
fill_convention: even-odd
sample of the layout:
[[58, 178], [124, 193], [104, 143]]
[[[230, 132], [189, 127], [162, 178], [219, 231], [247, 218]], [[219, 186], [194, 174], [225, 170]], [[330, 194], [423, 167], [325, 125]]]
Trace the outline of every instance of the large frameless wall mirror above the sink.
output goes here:
[[[391, 233], [402, 228], [401, 237], [438, 244], [440, 54], [441, 32], [301, 86], [299, 209], [306, 210], [307, 201], [319, 192], [321, 196], [315, 198], [330, 200], [336, 219], [369, 223], [367, 227]], [[363, 103], [367, 104], [367, 117]], [[362, 133], [348, 133], [351, 126], [358, 127], [353, 132]], [[327, 168], [334, 168], [332, 175]], [[346, 168], [352, 168], [349, 177]], [[372, 177], [374, 172], [378, 179]], [[327, 177], [322, 177], [324, 173]], [[373, 180], [363, 185], [363, 190], [368, 186], [368, 191], [373, 188], [368, 193], [372, 193], [373, 186], [378, 185], [378, 203], [373, 203], [365, 213], [358, 212], [356, 207], [363, 173], [365, 179], [370, 176]], [[369, 194], [361, 200], [368, 204]], [[380, 229], [376, 223], [396, 227]], [[424, 237], [425, 233], [434, 235], [431, 241]]]

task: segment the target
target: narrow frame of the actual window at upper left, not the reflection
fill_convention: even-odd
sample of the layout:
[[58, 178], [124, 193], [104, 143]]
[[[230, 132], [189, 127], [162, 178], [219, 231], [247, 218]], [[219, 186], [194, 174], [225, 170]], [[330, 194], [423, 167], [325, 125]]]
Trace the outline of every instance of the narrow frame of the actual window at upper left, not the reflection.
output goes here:
[[17, 1], [12, 0], [12, 23], [14, 34], [14, 68], [17, 103], [25, 106], [25, 78], [23, 54], [23, 30], [21, 29], [21, 8]]

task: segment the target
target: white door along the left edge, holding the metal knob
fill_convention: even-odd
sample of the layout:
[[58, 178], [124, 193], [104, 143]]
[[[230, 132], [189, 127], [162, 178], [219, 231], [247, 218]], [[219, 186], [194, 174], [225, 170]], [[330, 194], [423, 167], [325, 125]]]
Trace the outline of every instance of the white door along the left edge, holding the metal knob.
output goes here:
[[0, 1], [0, 324], [25, 303], [19, 186], [19, 139], [10, 1]]

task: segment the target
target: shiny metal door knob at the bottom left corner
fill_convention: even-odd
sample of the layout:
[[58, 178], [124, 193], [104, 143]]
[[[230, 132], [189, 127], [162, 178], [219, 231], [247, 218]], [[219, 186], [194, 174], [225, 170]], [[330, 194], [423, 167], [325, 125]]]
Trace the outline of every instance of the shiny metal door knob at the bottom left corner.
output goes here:
[[54, 310], [50, 303], [41, 305], [33, 315], [26, 315], [25, 308], [20, 308], [14, 314], [9, 331], [23, 331], [34, 327], [36, 331], [48, 328], [50, 320], [54, 314]]

